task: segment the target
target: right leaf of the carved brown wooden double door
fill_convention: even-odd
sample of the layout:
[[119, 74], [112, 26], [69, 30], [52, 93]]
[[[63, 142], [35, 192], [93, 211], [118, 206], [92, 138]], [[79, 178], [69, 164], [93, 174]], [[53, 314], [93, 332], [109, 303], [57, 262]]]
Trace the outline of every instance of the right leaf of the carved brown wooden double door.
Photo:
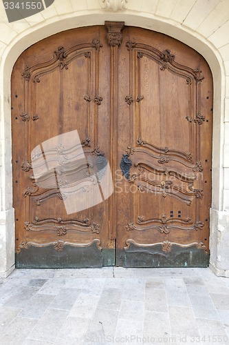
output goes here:
[[162, 34], [126, 28], [123, 42], [119, 124], [125, 132], [119, 132], [118, 152], [124, 192], [116, 260], [207, 264], [210, 70], [197, 52]]

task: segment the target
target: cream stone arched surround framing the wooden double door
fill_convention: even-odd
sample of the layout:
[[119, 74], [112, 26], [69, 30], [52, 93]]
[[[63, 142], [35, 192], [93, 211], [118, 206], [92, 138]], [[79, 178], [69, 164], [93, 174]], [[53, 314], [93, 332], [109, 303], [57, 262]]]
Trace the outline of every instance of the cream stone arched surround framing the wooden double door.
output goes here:
[[[96, 11], [95, 11], [96, 12]], [[91, 25], [103, 25], [107, 19], [106, 14], [101, 14], [100, 17], [96, 17], [96, 13], [87, 14], [81, 17], [81, 23], [84, 22], [85, 26]], [[79, 14], [78, 14], [79, 15]], [[140, 19], [140, 20], [139, 20]], [[188, 30], [182, 30], [176, 26], [171, 25], [171, 23], [166, 23], [166, 21], [159, 21], [157, 19], [152, 19], [150, 16], [140, 17], [133, 14], [121, 15], [120, 19], [116, 20], [126, 20], [127, 25], [135, 26], [135, 23], [140, 23], [141, 28], [146, 28], [152, 30], [152, 23], [157, 25], [160, 23], [160, 32], [168, 34], [173, 32], [173, 38], [179, 39], [180, 41], [186, 43], [191, 48], [194, 48], [201, 55], [205, 57], [208, 61], [210, 69], [213, 75], [213, 88], [214, 88], [214, 112], [213, 112], [213, 157], [212, 157], [212, 181], [217, 181], [217, 184], [212, 188], [212, 210], [211, 210], [211, 221], [210, 221], [210, 238], [211, 238], [211, 253], [210, 262], [212, 268], [217, 267], [217, 235], [215, 231], [214, 219], [217, 217], [217, 213], [222, 210], [222, 175], [223, 169], [221, 164], [221, 157], [223, 154], [223, 143], [221, 140], [221, 124], [223, 124], [223, 99], [224, 99], [224, 84], [221, 82], [225, 81], [225, 72], [223, 70], [223, 64], [221, 57], [217, 50], [213, 49], [210, 44], [202, 37], [196, 37], [193, 32]], [[59, 26], [56, 26], [56, 21], [58, 21]], [[14, 269], [14, 210], [12, 208], [12, 166], [11, 166], [11, 149], [12, 149], [12, 138], [11, 138], [11, 124], [10, 124], [10, 75], [15, 61], [21, 55], [23, 50], [31, 46], [36, 41], [39, 41], [47, 35], [55, 34], [60, 32], [60, 30], [68, 30], [72, 28], [72, 22], [63, 21], [56, 18], [56, 21], [49, 26], [42, 26], [36, 30], [36, 34], [32, 30], [25, 30], [23, 35], [19, 36], [14, 42], [10, 43], [5, 55], [1, 61], [1, 78], [3, 88], [1, 89], [2, 99], [5, 100], [1, 104], [1, 114], [4, 126], [2, 126], [2, 148], [3, 152], [6, 150], [4, 157], [2, 159], [3, 172], [1, 172], [1, 177], [4, 186], [8, 188], [3, 188], [1, 200], [1, 219], [3, 219], [3, 228], [5, 231], [6, 245], [3, 249], [1, 255], [3, 255], [3, 275], [8, 275]], [[81, 25], [83, 26], [83, 25]], [[74, 20], [74, 27], [77, 27], [76, 19]], [[171, 30], [171, 28], [173, 30]], [[170, 32], [169, 32], [170, 31]], [[220, 126], [219, 126], [220, 124]], [[220, 152], [220, 155], [219, 155]], [[219, 179], [219, 176], [221, 177]], [[7, 234], [7, 236], [6, 236]], [[216, 268], [217, 270], [217, 268]], [[1, 272], [0, 272], [1, 275]]]

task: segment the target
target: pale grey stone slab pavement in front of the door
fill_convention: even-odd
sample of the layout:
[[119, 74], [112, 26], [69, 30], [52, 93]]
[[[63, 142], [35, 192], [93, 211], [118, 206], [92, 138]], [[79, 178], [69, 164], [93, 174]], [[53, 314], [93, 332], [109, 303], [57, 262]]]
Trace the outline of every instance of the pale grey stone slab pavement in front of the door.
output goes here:
[[0, 344], [228, 344], [229, 279], [209, 268], [17, 269]]

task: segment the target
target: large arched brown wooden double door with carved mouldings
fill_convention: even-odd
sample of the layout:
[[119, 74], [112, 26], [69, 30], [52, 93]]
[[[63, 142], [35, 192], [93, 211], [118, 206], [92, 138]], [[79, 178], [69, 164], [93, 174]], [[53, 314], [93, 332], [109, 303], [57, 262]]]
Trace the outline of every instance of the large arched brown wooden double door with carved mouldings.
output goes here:
[[17, 267], [208, 266], [211, 152], [212, 77], [184, 43], [105, 22], [34, 44], [12, 72]]

